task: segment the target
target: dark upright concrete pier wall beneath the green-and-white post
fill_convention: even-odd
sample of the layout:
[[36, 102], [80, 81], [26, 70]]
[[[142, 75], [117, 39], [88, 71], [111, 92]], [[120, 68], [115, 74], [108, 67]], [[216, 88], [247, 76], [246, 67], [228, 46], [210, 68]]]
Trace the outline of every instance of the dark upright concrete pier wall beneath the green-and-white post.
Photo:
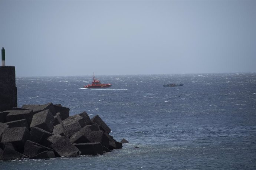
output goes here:
[[0, 66], [0, 111], [17, 107], [14, 66]]

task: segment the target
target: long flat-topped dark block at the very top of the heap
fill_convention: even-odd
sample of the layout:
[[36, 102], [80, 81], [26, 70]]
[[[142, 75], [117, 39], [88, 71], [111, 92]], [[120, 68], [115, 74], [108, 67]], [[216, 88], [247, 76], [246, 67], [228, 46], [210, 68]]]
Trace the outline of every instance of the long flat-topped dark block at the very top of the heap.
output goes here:
[[56, 115], [56, 110], [52, 103], [47, 103], [45, 105], [23, 105], [22, 108], [33, 110], [34, 113], [39, 113], [43, 110], [49, 109], [53, 116]]

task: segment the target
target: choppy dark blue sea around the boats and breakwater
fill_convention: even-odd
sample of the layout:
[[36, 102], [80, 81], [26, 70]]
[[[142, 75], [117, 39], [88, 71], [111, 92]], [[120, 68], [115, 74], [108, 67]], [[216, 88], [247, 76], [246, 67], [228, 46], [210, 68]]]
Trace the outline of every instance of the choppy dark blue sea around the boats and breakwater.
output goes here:
[[[256, 169], [256, 73], [16, 77], [18, 107], [62, 104], [99, 115], [122, 149], [0, 161], [1, 170]], [[164, 87], [168, 83], [183, 86]]]

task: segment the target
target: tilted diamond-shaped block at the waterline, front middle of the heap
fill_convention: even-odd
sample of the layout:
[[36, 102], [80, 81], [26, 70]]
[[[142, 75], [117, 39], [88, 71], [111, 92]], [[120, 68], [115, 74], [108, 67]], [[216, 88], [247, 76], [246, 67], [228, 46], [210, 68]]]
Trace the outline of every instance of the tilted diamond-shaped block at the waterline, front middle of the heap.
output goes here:
[[77, 147], [70, 143], [69, 139], [62, 136], [59, 140], [51, 145], [51, 148], [58, 153], [59, 156], [74, 157], [79, 156], [79, 150]]

